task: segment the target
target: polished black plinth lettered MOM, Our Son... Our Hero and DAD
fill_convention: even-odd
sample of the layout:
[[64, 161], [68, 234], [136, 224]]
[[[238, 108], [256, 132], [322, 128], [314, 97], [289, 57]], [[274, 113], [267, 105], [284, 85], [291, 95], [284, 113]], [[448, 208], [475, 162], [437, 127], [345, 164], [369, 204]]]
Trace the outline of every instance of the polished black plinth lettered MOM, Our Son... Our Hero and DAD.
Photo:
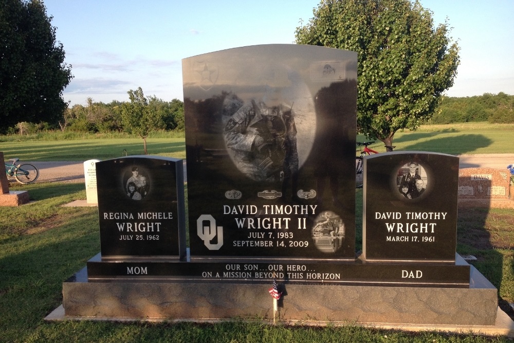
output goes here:
[[273, 278], [287, 284], [412, 287], [469, 287], [470, 265], [461, 257], [454, 264], [413, 262], [356, 263], [337, 261], [180, 262], [178, 259], [102, 259], [87, 261], [89, 281], [95, 282], [217, 282], [264, 283]]

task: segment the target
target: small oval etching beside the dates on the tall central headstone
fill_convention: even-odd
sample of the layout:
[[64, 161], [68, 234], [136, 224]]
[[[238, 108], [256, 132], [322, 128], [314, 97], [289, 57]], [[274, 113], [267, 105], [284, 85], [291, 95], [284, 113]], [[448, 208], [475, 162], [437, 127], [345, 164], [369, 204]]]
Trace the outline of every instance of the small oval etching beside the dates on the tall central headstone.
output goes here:
[[343, 243], [344, 223], [336, 213], [323, 211], [317, 216], [312, 233], [320, 251], [336, 252]]

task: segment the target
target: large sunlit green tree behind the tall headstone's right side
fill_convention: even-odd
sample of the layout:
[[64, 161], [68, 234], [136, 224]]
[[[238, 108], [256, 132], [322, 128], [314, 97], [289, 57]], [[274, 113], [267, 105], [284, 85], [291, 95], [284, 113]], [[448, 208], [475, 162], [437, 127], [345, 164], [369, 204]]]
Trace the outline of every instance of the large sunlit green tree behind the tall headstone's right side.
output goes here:
[[418, 1], [322, 0], [296, 29], [297, 44], [358, 53], [357, 127], [388, 147], [401, 129], [428, 120], [460, 63], [448, 23], [433, 27]]

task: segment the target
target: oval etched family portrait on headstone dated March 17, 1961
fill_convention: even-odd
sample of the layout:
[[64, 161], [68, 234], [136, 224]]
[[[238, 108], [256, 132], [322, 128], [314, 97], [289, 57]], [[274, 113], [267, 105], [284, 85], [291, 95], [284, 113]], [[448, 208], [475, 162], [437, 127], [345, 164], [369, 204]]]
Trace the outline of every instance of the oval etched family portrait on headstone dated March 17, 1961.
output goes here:
[[423, 166], [413, 161], [399, 169], [396, 179], [398, 191], [407, 199], [415, 199], [425, 192], [427, 173]]

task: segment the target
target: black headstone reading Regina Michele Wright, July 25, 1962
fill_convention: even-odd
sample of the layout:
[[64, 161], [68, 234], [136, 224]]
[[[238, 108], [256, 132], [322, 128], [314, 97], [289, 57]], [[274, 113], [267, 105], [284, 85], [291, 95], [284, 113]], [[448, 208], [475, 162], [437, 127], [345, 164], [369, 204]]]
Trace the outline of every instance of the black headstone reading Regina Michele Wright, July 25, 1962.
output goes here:
[[181, 159], [128, 156], [96, 171], [102, 259], [185, 259]]

